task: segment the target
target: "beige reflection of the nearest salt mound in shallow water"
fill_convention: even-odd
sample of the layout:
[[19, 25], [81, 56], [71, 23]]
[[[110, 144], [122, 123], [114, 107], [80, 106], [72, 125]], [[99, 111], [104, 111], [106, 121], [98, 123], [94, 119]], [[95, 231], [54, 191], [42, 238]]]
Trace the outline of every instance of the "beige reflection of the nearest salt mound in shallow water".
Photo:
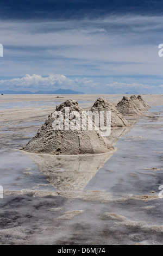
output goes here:
[[76, 156], [27, 153], [49, 183], [60, 191], [83, 190], [112, 154], [113, 151]]

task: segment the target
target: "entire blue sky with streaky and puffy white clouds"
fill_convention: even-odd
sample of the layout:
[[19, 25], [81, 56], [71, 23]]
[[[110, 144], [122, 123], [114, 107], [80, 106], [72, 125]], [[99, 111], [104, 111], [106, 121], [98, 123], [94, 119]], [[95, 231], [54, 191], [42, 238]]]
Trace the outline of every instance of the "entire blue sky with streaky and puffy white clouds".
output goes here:
[[163, 93], [161, 1], [0, 2], [0, 90]]

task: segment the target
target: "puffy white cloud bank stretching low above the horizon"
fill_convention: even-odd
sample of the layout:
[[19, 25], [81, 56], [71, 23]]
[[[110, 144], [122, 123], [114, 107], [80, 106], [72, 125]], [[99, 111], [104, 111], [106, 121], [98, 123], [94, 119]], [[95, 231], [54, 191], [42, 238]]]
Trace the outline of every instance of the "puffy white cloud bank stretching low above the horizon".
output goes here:
[[[160, 88], [163, 85], [159, 86]], [[95, 80], [84, 78], [68, 78], [61, 74], [49, 74], [46, 77], [41, 75], [29, 75], [26, 74], [22, 78], [14, 78], [10, 80], [0, 80], [0, 88], [2, 90], [55, 90], [58, 88], [62, 89], [73, 89], [80, 90], [85, 93], [125, 93], [127, 90], [148, 90], [155, 89], [155, 86], [150, 86], [143, 83], [125, 83], [125, 82], [97, 82]], [[100, 88], [100, 89], [99, 89]]]

